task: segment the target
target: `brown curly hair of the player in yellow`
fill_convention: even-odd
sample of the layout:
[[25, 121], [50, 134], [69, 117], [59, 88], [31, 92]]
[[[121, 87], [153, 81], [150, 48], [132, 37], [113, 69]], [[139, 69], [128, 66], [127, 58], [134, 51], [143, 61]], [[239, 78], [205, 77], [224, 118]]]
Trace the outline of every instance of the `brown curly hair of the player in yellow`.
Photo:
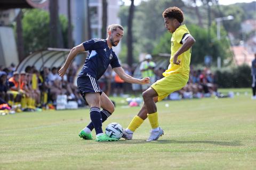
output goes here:
[[180, 8], [173, 6], [164, 10], [163, 18], [174, 18], [177, 19], [180, 23], [182, 23], [184, 20], [184, 15]]

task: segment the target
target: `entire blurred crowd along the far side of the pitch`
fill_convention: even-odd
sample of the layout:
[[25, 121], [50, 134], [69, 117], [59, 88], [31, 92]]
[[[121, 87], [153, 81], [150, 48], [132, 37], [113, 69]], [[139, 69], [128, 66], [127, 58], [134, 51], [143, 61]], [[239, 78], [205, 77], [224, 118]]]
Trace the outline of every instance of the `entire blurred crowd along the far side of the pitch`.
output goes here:
[[[134, 75], [135, 66], [122, 64], [122, 67], [127, 74]], [[163, 78], [162, 73], [165, 71], [162, 67], [156, 67], [151, 55], [146, 55], [145, 60], [137, 67], [139, 67], [141, 77], [150, 77], [150, 84], [143, 85], [142, 91]], [[2, 110], [21, 112], [54, 108], [58, 95], [66, 95], [68, 100], [76, 101], [78, 106], [86, 104], [74, 84], [78, 71], [78, 66], [75, 64], [70, 65], [63, 78], [59, 77], [59, 68], [57, 67], [43, 67], [38, 71], [34, 66], [27, 66], [25, 71], [17, 72], [15, 70], [14, 64], [11, 64], [10, 67], [0, 66], [0, 109]], [[99, 79], [99, 86], [108, 96], [125, 97], [127, 96], [124, 95], [125, 93], [133, 94], [134, 92], [132, 85], [119, 78], [112, 71], [111, 66]], [[202, 98], [217, 95], [214, 74], [207, 68], [196, 70], [191, 67], [187, 85], [176, 94], [180, 98]], [[172, 99], [171, 96], [169, 99]]]

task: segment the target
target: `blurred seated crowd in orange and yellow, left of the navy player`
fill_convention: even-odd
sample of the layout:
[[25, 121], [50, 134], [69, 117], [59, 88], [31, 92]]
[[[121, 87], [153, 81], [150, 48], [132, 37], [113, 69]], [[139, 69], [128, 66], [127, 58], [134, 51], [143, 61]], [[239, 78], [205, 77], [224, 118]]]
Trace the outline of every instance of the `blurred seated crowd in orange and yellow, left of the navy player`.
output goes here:
[[0, 66], [0, 109], [11, 112], [36, 111], [54, 108], [58, 95], [67, 95], [69, 100], [83, 104], [83, 98], [74, 85], [77, 67], [72, 65], [60, 78], [59, 68], [44, 67], [38, 71], [27, 66], [25, 71], [15, 71], [15, 65]]

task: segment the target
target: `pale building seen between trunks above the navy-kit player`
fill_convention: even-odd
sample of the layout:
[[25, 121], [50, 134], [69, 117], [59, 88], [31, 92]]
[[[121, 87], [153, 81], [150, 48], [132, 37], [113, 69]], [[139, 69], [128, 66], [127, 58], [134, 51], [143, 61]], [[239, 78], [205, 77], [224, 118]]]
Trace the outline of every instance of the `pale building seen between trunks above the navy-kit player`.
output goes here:
[[[65, 15], [68, 18], [68, 1], [59, 1], [59, 14]], [[101, 0], [73, 0], [71, 1], [71, 20], [73, 25], [73, 39], [75, 45], [81, 44], [83, 41], [88, 40], [86, 37], [86, 1], [89, 1], [90, 10], [90, 23], [91, 23], [91, 37], [101, 38], [102, 28], [102, 1]], [[121, 21], [118, 18], [119, 3], [118, 0], [108, 0], [107, 7], [107, 25], [109, 24], [120, 24]], [[107, 28], [106, 28], [107, 29]], [[118, 55], [121, 51], [121, 45], [113, 47], [116, 54]]]

